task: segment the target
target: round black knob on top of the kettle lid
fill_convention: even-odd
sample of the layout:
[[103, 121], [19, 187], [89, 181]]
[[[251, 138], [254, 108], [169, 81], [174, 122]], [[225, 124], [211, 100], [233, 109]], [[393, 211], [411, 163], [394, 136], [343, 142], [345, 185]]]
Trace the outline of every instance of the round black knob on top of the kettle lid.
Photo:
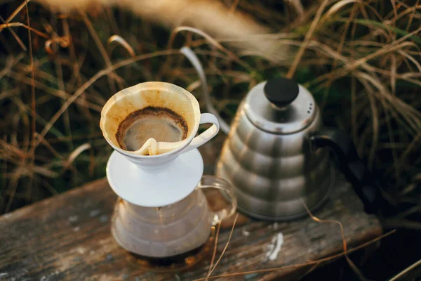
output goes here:
[[278, 77], [267, 80], [263, 91], [272, 104], [277, 107], [286, 107], [297, 98], [299, 89], [297, 82]]

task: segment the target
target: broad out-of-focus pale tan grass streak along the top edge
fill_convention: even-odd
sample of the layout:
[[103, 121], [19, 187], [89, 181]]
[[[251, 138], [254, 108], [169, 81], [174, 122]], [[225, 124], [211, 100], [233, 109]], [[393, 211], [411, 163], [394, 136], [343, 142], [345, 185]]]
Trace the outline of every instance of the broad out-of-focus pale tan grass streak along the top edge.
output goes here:
[[[85, 1], [55, 1], [37, 0], [39, 3], [50, 6], [52, 9], [69, 12], [74, 10], [89, 11], [91, 5], [98, 2], [92, 0]], [[295, 0], [296, 1], [296, 0]], [[143, 0], [143, 1], [100, 1], [102, 6], [119, 6], [126, 11], [131, 11], [139, 17], [167, 27], [189, 25], [201, 27], [201, 29], [212, 34], [213, 37], [239, 38], [248, 34], [263, 34], [270, 32], [265, 25], [247, 13], [229, 13], [221, 1], [213, 0]], [[229, 28], [227, 28], [229, 27]], [[267, 55], [274, 60], [284, 60], [287, 55], [282, 55], [284, 48], [279, 48], [274, 41], [249, 41], [236, 46], [243, 50], [252, 51], [259, 55]]]

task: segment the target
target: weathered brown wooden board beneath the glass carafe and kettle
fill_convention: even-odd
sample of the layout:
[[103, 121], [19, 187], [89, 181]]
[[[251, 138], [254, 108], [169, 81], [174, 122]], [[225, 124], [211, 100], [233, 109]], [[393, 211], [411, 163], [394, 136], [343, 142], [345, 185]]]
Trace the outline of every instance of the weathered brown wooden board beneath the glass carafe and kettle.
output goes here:
[[[213, 171], [215, 151], [222, 138], [201, 148], [206, 174]], [[206, 277], [210, 256], [184, 273], [142, 270], [133, 256], [110, 235], [110, 217], [116, 195], [105, 179], [0, 217], [0, 280], [195, 280]], [[316, 212], [319, 218], [338, 220], [349, 247], [382, 233], [374, 216], [363, 213], [361, 202], [342, 176], [331, 199]], [[276, 250], [278, 239], [283, 244]], [[224, 224], [217, 258], [229, 237]], [[260, 270], [321, 259], [342, 251], [340, 228], [311, 218], [283, 223], [240, 216], [232, 240], [212, 275]], [[222, 280], [296, 279], [311, 266], [250, 273]]]

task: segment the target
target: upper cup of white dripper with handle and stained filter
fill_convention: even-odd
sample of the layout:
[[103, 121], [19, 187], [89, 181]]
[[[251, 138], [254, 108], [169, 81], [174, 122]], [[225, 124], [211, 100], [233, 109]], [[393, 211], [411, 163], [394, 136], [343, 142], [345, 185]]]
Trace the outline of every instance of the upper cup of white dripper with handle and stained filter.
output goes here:
[[[187, 137], [175, 143], [148, 139], [140, 150], [123, 150], [116, 139], [119, 124], [131, 112], [148, 106], [166, 107], [180, 115], [187, 122]], [[205, 123], [213, 125], [199, 136], [195, 136], [199, 124]], [[218, 133], [219, 123], [214, 115], [200, 113], [199, 103], [192, 93], [174, 84], [153, 81], [131, 86], [112, 96], [102, 108], [100, 128], [114, 150], [125, 155], [141, 169], [154, 170], [173, 161], [180, 153], [198, 148], [209, 141]], [[147, 155], [149, 152], [152, 155]]]

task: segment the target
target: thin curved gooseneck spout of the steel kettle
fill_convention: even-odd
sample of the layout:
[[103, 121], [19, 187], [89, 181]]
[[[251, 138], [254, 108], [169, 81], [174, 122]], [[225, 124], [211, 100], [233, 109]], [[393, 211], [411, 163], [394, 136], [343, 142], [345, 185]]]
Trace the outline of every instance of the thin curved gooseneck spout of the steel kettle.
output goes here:
[[205, 71], [200, 63], [199, 58], [197, 55], [192, 51], [189, 47], [182, 47], [180, 48], [180, 53], [185, 55], [185, 57], [192, 63], [194, 70], [196, 70], [197, 74], [199, 75], [199, 80], [202, 88], [203, 100], [205, 100], [206, 109], [209, 113], [215, 115], [216, 119], [220, 124], [220, 130], [223, 131], [225, 134], [229, 133], [229, 124], [225, 122], [224, 119], [220, 116], [218, 110], [213, 107], [212, 101], [210, 100], [209, 91], [208, 91], [208, 81], [206, 80]]

